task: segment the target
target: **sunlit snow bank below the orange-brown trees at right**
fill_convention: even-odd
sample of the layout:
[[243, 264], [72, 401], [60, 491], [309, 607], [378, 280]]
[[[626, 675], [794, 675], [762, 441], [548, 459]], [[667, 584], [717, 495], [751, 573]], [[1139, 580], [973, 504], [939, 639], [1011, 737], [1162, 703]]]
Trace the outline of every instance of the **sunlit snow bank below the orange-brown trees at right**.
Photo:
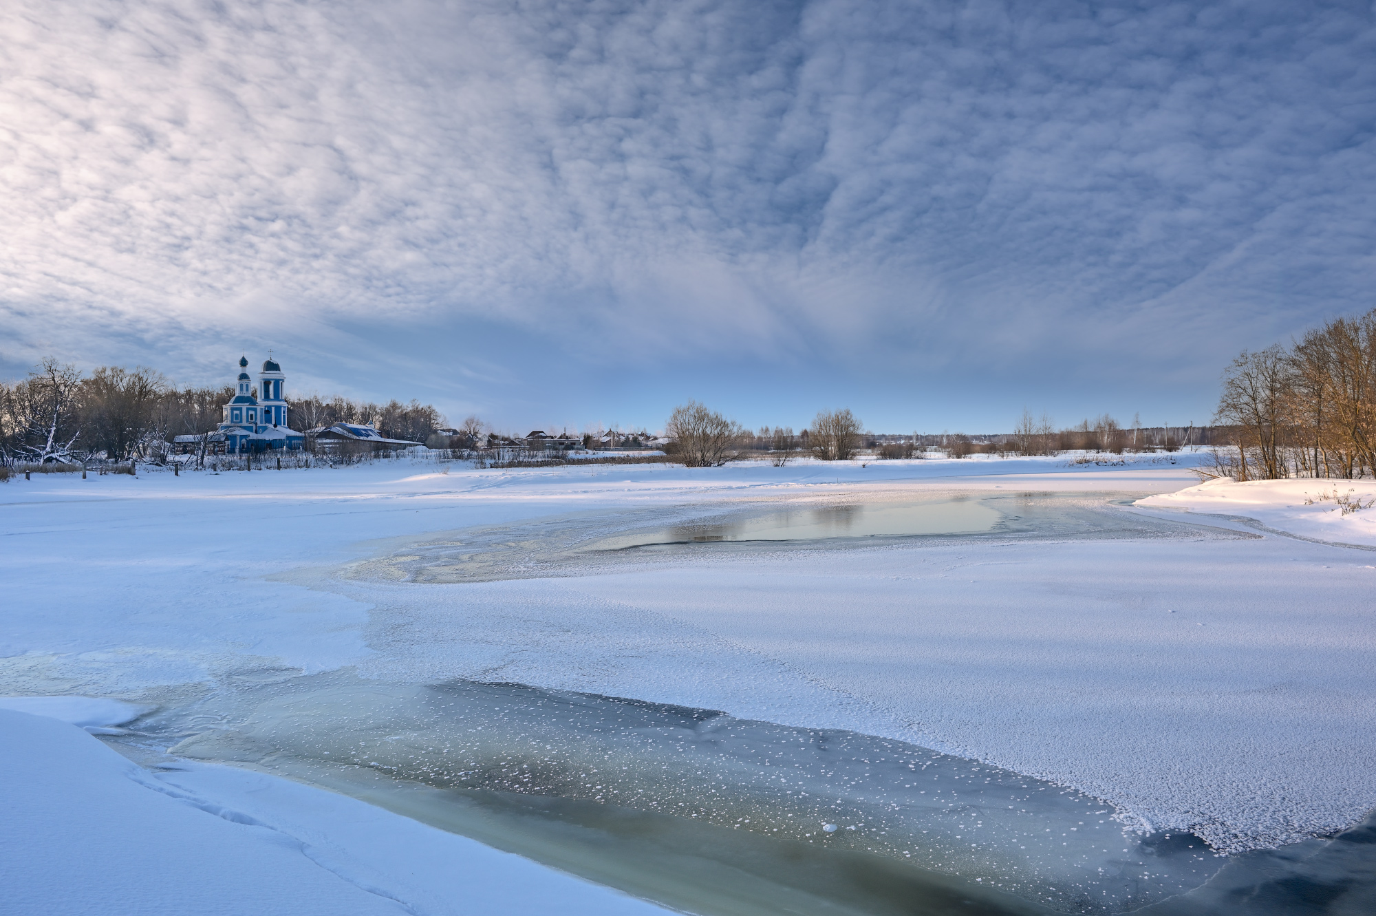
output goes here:
[[1210, 480], [1138, 501], [1139, 506], [1244, 516], [1326, 543], [1376, 547], [1376, 505], [1343, 514], [1337, 498], [1376, 503], [1373, 480]]

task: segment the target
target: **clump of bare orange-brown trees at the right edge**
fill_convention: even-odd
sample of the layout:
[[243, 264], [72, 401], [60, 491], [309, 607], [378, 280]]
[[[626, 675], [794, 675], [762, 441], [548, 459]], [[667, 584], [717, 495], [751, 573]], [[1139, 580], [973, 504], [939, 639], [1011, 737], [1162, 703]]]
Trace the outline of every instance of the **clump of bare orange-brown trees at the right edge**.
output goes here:
[[1376, 473], [1376, 309], [1335, 318], [1289, 347], [1243, 351], [1223, 371], [1216, 422], [1236, 480]]

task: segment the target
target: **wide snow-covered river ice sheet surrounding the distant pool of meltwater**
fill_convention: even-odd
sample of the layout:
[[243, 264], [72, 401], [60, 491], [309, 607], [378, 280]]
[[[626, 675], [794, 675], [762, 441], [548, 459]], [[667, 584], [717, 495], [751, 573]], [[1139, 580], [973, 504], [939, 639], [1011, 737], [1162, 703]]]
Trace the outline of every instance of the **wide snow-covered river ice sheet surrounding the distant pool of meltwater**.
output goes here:
[[1181, 465], [424, 470], [0, 487], [0, 689], [143, 703], [345, 666], [509, 679], [897, 737], [1223, 849], [1331, 832], [1376, 800], [1365, 553], [1068, 538], [462, 586], [337, 575], [436, 532], [541, 517], [934, 488], [1137, 498], [1192, 486]]

